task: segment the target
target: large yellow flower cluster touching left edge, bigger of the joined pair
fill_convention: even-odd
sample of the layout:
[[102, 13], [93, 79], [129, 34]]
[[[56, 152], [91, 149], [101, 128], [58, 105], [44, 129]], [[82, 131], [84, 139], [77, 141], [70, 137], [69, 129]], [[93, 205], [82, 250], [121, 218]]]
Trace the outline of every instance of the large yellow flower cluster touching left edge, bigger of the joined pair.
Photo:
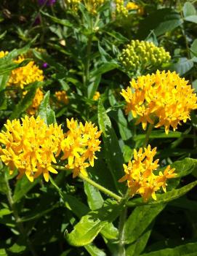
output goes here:
[[6, 131], [0, 133], [0, 158], [9, 166], [10, 174], [15, 168], [18, 178], [25, 174], [33, 179], [43, 174], [49, 181], [49, 172], [57, 174], [52, 163], [60, 154], [60, 142], [63, 140], [61, 125], [46, 125], [40, 117], [25, 116], [20, 120], [7, 120]]

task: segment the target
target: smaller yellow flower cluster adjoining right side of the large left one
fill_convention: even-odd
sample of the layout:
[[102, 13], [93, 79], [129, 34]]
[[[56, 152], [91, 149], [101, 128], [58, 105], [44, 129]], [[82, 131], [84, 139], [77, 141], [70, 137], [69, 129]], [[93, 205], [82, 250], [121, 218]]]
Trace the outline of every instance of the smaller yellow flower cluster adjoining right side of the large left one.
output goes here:
[[65, 134], [65, 139], [61, 142], [63, 150], [62, 160], [68, 159], [68, 164], [65, 165], [68, 169], [73, 169], [73, 177], [81, 174], [87, 176], [86, 168], [94, 166], [96, 151], [100, 151], [100, 134], [97, 131], [97, 126], [92, 123], [78, 123], [77, 121], [67, 120], [68, 132]]

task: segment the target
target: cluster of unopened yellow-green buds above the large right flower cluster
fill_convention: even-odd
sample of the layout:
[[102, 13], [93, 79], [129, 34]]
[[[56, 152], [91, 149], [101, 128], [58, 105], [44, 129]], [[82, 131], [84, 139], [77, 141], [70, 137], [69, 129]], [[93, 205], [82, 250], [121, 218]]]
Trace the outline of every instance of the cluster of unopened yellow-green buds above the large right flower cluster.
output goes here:
[[127, 70], [135, 71], [147, 66], [159, 66], [170, 60], [169, 52], [164, 47], [156, 47], [153, 42], [132, 40], [122, 50], [119, 60]]

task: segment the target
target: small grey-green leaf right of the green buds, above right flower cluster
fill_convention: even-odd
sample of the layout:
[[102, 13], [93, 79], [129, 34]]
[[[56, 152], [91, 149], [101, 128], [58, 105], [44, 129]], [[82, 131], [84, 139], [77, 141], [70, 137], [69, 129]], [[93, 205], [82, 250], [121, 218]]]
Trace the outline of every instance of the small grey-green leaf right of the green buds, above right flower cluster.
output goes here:
[[169, 69], [176, 71], [180, 76], [190, 71], [193, 68], [193, 61], [188, 58], [180, 58], [177, 63], [172, 64]]

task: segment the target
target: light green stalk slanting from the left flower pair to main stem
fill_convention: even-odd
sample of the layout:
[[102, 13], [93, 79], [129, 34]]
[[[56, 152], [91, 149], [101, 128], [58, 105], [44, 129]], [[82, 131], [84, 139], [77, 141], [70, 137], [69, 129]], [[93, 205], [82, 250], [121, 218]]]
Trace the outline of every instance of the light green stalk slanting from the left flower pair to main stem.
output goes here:
[[[60, 171], [68, 171], [68, 169], [63, 166], [53, 166], [53, 168], [60, 170]], [[121, 196], [116, 195], [115, 193], [113, 193], [112, 191], [108, 190], [105, 187], [102, 187], [102, 185], [97, 184], [97, 182], [94, 182], [92, 179], [89, 179], [89, 177], [85, 177], [83, 174], [79, 174], [79, 178], [88, 182], [90, 185], [96, 187], [98, 190], [102, 191], [102, 193], [109, 195], [111, 198], [114, 198], [117, 201], [121, 201], [121, 199], [122, 199]]]

